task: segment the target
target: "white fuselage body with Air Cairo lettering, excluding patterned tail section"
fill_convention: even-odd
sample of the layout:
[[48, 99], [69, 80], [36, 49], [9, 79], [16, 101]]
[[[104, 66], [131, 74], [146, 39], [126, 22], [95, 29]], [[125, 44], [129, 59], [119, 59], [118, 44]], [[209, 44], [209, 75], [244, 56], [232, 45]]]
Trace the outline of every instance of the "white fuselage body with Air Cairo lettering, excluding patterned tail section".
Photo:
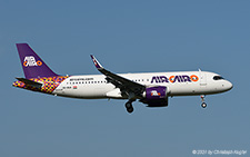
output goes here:
[[[146, 87], [166, 86], [170, 97], [212, 95], [228, 91], [232, 88], [230, 81], [224, 79], [216, 80], [214, 77], [219, 75], [207, 71], [121, 73], [119, 76]], [[191, 76], [197, 76], [198, 78], [190, 79]], [[103, 75], [71, 76], [57, 87], [53, 95], [83, 99], [128, 98], [121, 96], [119, 88], [107, 82]]]

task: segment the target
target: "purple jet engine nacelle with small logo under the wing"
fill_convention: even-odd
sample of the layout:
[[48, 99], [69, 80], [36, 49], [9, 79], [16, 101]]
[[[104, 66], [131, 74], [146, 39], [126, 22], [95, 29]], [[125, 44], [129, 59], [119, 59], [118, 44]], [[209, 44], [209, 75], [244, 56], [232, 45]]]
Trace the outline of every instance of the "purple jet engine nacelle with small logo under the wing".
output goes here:
[[149, 87], [143, 92], [143, 99], [140, 100], [148, 107], [168, 106], [168, 88], [164, 86]]

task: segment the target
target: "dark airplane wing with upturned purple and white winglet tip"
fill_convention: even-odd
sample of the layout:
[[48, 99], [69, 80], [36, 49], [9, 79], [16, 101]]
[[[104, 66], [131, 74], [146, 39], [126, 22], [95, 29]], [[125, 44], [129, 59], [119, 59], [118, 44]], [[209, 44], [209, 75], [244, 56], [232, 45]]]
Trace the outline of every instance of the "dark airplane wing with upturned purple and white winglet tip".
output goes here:
[[90, 57], [97, 69], [107, 77], [106, 79], [108, 82], [111, 82], [117, 88], [120, 88], [121, 92], [128, 96], [130, 94], [134, 94], [137, 97], [141, 97], [142, 92], [146, 90], [146, 86], [110, 72], [104, 69], [92, 55]]

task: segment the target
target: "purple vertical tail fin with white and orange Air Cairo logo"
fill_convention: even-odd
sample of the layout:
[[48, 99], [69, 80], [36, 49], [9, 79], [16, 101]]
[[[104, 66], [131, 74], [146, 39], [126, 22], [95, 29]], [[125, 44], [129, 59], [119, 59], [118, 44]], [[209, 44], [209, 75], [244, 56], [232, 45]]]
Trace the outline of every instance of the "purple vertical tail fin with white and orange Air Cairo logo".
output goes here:
[[22, 69], [27, 79], [53, 77], [54, 73], [27, 43], [17, 43]]

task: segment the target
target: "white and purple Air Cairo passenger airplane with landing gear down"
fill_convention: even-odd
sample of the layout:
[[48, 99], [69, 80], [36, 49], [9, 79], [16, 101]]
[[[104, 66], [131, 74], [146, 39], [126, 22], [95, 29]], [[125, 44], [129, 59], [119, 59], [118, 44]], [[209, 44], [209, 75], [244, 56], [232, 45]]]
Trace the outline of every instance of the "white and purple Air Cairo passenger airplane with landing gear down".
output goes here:
[[24, 78], [17, 78], [14, 87], [43, 94], [80, 99], [127, 99], [126, 109], [133, 111], [139, 100], [147, 107], [167, 107], [169, 97], [201, 96], [232, 89], [232, 84], [209, 71], [113, 73], [91, 55], [101, 75], [61, 76], [54, 73], [28, 43], [17, 43]]

